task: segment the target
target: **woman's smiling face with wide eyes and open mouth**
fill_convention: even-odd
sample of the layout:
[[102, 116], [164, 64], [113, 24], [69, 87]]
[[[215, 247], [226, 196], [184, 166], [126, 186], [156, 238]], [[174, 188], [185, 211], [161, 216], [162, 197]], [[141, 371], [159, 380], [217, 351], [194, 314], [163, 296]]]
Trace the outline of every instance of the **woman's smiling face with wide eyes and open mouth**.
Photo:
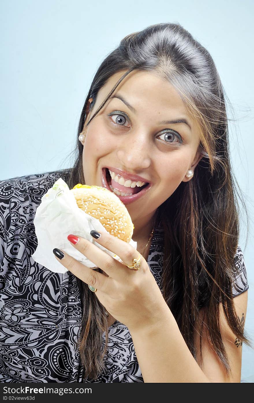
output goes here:
[[[100, 89], [86, 123], [124, 72]], [[108, 166], [145, 178], [150, 189], [126, 203], [135, 223], [140, 215], [151, 218], [182, 181], [190, 180], [185, 174], [201, 158], [200, 137], [176, 90], [155, 73], [132, 71], [112, 96], [120, 96], [130, 107], [119, 98], [109, 99], [83, 131], [85, 183], [103, 186], [102, 169]], [[163, 123], [182, 119], [188, 125]]]

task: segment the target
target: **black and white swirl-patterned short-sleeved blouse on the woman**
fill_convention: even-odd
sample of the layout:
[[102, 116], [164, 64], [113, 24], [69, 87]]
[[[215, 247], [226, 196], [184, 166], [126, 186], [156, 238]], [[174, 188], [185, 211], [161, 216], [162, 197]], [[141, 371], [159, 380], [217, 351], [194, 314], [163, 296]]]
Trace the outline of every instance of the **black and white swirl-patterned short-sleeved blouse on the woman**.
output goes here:
[[[54, 273], [31, 258], [37, 247], [36, 209], [59, 177], [47, 172], [0, 181], [0, 382], [89, 382], [83, 380], [76, 348], [81, 328], [76, 277]], [[160, 225], [147, 263], [160, 287]], [[234, 296], [248, 289], [240, 247], [235, 265]], [[93, 382], [143, 382], [128, 328], [118, 321], [109, 327], [105, 364], [105, 373]]]

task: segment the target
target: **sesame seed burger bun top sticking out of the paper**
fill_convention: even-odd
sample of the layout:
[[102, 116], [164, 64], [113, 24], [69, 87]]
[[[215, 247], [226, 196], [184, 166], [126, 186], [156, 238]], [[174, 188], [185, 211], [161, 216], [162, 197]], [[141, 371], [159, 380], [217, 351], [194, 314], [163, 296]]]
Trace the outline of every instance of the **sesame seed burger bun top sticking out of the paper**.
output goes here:
[[81, 183], [70, 191], [74, 194], [78, 207], [97, 218], [109, 234], [130, 242], [134, 225], [127, 208], [114, 192], [101, 186]]

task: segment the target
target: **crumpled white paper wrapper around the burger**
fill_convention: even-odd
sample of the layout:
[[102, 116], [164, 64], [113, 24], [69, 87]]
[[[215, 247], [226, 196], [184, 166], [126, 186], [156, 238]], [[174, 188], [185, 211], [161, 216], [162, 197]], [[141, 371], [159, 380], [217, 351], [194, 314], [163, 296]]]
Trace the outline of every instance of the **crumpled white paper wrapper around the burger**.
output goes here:
[[[67, 239], [69, 234], [87, 239], [99, 249], [122, 262], [118, 256], [99, 245], [90, 235], [90, 231], [93, 229], [99, 233], [107, 231], [97, 218], [91, 217], [78, 207], [73, 193], [62, 178], [59, 178], [41, 198], [41, 204], [37, 207], [35, 213], [34, 225], [38, 246], [32, 258], [52, 272], [65, 273], [68, 271], [56, 260], [53, 253], [54, 248], [68, 253], [68, 255], [87, 267], [97, 267], [95, 263], [88, 260], [70, 244]], [[132, 239], [130, 240], [130, 245], [134, 249], [137, 248], [137, 243]]]

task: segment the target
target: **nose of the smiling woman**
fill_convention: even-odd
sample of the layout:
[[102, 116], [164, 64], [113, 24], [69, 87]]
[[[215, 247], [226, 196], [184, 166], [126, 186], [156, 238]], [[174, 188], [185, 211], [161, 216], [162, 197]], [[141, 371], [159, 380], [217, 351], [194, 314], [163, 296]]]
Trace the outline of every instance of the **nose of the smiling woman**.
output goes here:
[[128, 141], [123, 136], [119, 141], [117, 156], [127, 170], [143, 170], [151, 165], [149, 139], [146, 134], [128, 133]]

